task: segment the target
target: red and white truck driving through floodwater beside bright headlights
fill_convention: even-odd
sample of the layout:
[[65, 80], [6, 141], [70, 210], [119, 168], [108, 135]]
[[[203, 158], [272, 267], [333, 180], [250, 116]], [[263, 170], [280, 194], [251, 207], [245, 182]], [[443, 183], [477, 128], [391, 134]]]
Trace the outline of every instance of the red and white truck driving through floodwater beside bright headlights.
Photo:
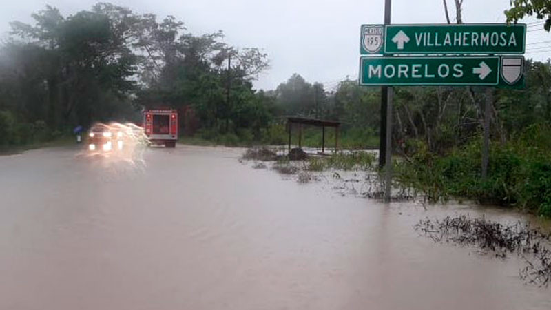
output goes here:
[[145, 135], [151, 143], [175, 147], [178, 141], [178, 111], [171, 109], [143, 112]]

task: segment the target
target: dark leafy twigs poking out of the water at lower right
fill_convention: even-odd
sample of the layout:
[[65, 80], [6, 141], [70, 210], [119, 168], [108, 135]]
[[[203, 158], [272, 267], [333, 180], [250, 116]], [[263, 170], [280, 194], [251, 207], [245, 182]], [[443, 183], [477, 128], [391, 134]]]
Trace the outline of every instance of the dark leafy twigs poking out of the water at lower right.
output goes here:
[[443, 220], [420, 220], [415, 229], [435, 242], [473, 246], [498, 258], [511, 254], [521, 256], [526, 267], [520, 271], [521, 279], [547, 287], [551, 280], [551, 234], [540, 229], [516, 223], [501, 223], [466, 215], [446, 217]]

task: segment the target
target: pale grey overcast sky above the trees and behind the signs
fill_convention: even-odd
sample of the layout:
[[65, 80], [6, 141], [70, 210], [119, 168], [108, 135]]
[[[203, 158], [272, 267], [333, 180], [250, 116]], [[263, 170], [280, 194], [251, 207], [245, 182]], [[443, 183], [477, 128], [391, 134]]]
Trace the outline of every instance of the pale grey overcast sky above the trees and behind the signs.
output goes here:
[[[90, 9], [93, 0], [5, 1], [0, 10], [0, 33], [7, 36], [8, 22], [31, 22], [30, 14], [50, 4], [61, 13]], [[174, 15], [194, 34], [223, 30], [225, 42], [238, 47], [261, 48], [271, 69], [255, 85], [266, 90], [298, 73], [307, 81], [327, 88], [346, 76], [357, 79], [360, 57], [360, 25], [382, 23], [384, 0], [112, 0], [138, 13], [154, 13], [162, 19]], [[453, 0], [448, 0], [455, 17]], [[465, 23], [505, 21], [509, 0], [464, 0]], [[444, 23], [441, 0], [393, 0], [393, 23]], [[526, 23], [534, 19], [526, 20]], [[548, 59], [551, 34], [528, 28], [527, 58]], [[532, 44], [530, 44], [532, 43]]]

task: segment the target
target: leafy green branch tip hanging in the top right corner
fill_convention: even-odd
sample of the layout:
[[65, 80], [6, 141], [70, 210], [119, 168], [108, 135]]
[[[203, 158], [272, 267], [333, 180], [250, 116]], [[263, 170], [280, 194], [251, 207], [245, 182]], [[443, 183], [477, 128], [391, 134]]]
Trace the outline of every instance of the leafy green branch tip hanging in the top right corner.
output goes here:
[[508, 23], [517, 23], [526, 16], [545, 19], [543, 28], [551, 30], [551, 0], [511, 0], [511, 8], [505, 11]]

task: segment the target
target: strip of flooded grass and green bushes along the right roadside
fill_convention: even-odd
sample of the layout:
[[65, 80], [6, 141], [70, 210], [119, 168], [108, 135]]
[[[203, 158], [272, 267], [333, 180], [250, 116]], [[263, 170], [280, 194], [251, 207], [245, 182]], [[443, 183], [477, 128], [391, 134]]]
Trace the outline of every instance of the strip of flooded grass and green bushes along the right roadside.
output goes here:
[[[393, 196], [421, 196], [430, 203], [474, 200], [482, 204], [514, 207], [551, 216], [551, 125], [532, 125], [505, 143], [492, 143], [486, 180], [481, 178], [481, 138], [443, 152], [430, 152], [422, 141], [408, 141], [408, 154], [394, 161]], [[280, 152], [283, 154], [284, 152]], [[363, 172], [339, 178], [339, 189], [371, 198], [382, 197], [382, 178], [377, 156], [368, 151], [340, 151], [330, 156], [309, 156], [300, 163], [289, 161], [277, 150], [249, 149], [243, 156], [253, 161], [277, 161], [273, 169], [282, 174], [309, 172]], [[355, 186], [359, 185], [359, 186]]]

